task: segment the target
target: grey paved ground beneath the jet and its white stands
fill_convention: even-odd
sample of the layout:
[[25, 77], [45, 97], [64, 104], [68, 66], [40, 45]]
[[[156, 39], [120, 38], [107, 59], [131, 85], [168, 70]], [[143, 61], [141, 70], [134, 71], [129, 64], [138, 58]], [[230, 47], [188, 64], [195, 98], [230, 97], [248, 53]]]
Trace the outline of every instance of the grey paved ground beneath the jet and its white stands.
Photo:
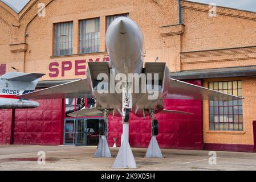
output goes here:
[[[113, 158], [93, 158], [95, 146], [0, 146], [0, 170], [113, 170]], [[38, 151], [46, 152], [46, 164], [39, 165]], [[144, 158], [145, 148], [132, 148], [137, 170], [256, 170], [256, 153], [218, 152], [210, 165], [209, 151], [161, 150], [164, 158]], [[115, 169], [116, 170], [116, 169]], [[121, 169], [129, 170], [129, 169]]]

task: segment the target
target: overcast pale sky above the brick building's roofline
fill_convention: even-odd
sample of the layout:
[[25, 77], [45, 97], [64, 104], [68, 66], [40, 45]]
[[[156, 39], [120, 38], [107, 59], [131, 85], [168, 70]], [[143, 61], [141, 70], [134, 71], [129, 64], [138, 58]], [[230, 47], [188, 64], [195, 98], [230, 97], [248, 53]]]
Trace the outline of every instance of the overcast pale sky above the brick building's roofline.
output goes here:
[[[2, 0], [10, 3], [18, 11], [20, 11], [29, 0]], [[255, 11], [256, 12], [256, 0], [190, 0], [201, 3], [216, 3], [217, 6], [233, 7], [235, 9]]]

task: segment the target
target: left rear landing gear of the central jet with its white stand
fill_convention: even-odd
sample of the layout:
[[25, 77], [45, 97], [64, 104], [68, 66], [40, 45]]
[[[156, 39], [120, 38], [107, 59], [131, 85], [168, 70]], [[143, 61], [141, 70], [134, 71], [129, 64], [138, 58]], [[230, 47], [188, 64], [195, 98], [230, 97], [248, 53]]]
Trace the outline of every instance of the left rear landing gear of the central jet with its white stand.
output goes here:
[[105, 121], [100, 120], [100, 125], [99, 125], [100, 141], [94, 155], [95, 158], [111, 158], [111, 152], [109, 150], [108, 141], [105, 136], [105, 126], [106, 126], [106, 123], [108, 122], [108, 114], [109, 114], [109, 110], [104, 109]]

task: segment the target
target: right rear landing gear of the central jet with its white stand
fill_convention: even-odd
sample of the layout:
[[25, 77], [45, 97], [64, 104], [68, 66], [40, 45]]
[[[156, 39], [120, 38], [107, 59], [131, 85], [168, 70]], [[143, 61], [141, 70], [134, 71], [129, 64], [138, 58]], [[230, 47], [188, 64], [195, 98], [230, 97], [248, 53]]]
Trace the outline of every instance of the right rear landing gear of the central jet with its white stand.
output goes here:
[[152, 109], [149, 109], [149, 115], [151, 117], [151, 141], [149, 143], [145, 157], [162, 158], [162, 152], [156, 140], [156, 136], [158, 135], [158, 121], [155, 119], [155, 115]]

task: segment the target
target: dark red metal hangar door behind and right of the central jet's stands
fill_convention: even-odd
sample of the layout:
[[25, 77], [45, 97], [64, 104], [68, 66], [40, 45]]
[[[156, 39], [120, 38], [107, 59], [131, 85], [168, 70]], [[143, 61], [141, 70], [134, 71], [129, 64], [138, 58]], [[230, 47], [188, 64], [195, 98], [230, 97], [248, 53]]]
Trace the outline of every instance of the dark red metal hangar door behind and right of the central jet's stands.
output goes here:
[[[200, 80], [188, 81], [201, 85]], [[156, 137], [161, 148], [202, 149], [202, 102], [191, 100], [165, 100], [165, 109], [194, 113], [192, 115], [157, 114], [159, 135]], [[129, 142], [131, 147], [148, 147], [151, 140], [150, 118], [130, 115]], [[121, 117], [109, 117], [108, 143], [113, 146], [113, 137], [120, 146], [123, 126]]]

